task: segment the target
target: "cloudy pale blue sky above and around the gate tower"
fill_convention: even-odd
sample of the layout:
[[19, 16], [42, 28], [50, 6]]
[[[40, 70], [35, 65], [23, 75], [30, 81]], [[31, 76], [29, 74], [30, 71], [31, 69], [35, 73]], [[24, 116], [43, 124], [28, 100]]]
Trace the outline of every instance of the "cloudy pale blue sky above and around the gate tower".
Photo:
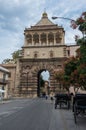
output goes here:
[[70, 27], [70, 21], [52, 20], [52, 16], [78, 18], [86, 11], [86, 0], [0, 0], [0, 63], [24, 45], [24, 29], [34, 26], [46, 11], [48, 18], [65, 30], [65, 44], [75, 44], [82, 35]]

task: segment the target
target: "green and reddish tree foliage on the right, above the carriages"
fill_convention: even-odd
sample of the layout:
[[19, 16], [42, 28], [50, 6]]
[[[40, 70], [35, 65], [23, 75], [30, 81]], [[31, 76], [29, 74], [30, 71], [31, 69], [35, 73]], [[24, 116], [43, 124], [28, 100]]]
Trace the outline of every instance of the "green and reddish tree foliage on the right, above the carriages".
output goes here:
[[65, 62], [64, 74], [57, 72], [55, 75], [57, 81], [61, 81], [67, 89], [72, 84], [74, 88], [80, 87], [86, 90], [86, 12], [83, 12], [76, 20], [72, 20], [71, 27], [78, 28], [83, 34], [82, 38], [75, 36], [76, 44], [80, 46], [77, 50], [78, 55]]

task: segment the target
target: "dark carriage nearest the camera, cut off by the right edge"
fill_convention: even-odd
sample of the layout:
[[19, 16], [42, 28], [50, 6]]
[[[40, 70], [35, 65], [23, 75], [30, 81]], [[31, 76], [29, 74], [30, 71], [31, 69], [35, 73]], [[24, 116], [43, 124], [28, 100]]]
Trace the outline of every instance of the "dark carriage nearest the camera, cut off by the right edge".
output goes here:
[[74, 121], [77, 123], [77, 117], [86, 116], [86, 94], [76, 94], [73, 99]]

